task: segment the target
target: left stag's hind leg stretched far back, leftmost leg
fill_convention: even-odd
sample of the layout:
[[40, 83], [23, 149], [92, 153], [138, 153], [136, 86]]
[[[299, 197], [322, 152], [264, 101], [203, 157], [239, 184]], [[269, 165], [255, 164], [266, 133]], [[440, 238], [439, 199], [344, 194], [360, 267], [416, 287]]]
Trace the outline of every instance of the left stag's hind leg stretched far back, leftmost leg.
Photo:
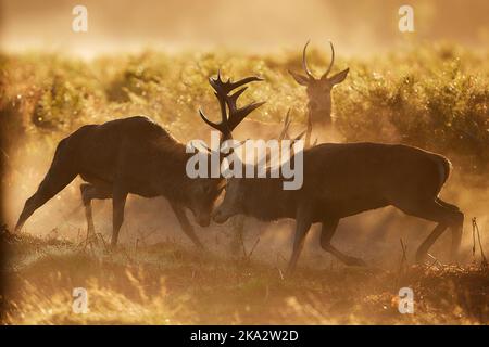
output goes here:
[[34, 214], [34, 211], [70, 184], [70, 182], [75, 179], [76, 175], [77, 174], [72, 172], [71, 170], [64, 169], [57, 162], [53, 162], [36, 193], [25, 202], [14, 231], [21, 231], [25, 221]]

